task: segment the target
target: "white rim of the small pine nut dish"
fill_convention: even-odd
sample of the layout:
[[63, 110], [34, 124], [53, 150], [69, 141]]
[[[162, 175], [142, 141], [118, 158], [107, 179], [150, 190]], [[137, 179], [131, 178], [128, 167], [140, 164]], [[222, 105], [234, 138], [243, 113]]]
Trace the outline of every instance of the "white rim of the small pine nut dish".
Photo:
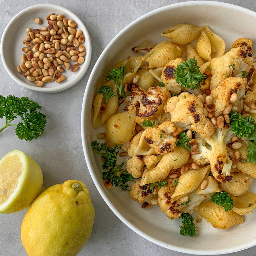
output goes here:
[[[71, 79], [68, 83], [66, 84], [59, 84], [59, 86], [56, 87], [37, 87], [37, 86], [31, 86], [28, 83], [23, 82], [22, 80], [20, 80], [19, 78], [17, 78], [16, 76], [13, 75], [13, 72], [11, 71], [11, 69], [8, 67], [7, 61], [5, 59], [5, 54], [4, 54], [4, 41], [5, 41], [5, 37], [7, 35], [7, 33], [9, 32], [9, 28], [11, 27], [11, 25], [14, 23], [14, 21], [19, 18], [20, 16], [26, 14], [27, 12], [29, 12], [30, 10], [34, 10], [34, 8], [42, 8], [42, 7], [49, 7], [49, 8], [57, 8], [60, 10], [63, 10], [64, 12], [66, 12], [68, 15], [70, 15], [71, 17], [74, 17], [74, 20], [79, 21], [79, 23], [81, 23], [82, 25], [82, 31], [83, 31], [83, 35], [87, 40], [87, 47], [86, 47], [86, 58], [84, 58], [84, 63], [83, 63], [83, 67], [82, 67], [82, 72], [80, 72], [78, 74], [78, 76], [74, 77], [73, 79]], [[83, 76], [86, 74], [90, 62], [91, 62], [91, 53], [92, 53], [92, 46], [91, 46], [91, 38], [90, 38], [90, 34], [86, 28], [86, 26], [84, 25], [84, 23], [82, 22], [82, 20], [73, 12], [69, 11], [67, 8], [62, 7], [60, 5], [56, 5], [56, 4], [35, 4], [35, 5], [31, 5], [25, 9], [23, 9], [22, 11], [18, 12], [18, 14], [16, 14], [7, 24], [7, 26], [4, 29], [2, 38], [1, 38], [1, 44], [0, 44], [0, 54], [1, 54], [1, 59], [4, 65], [5, 70], [7, 71], [7, 73], [11, 76], [11, 78], [18, 84], [20, 84], [21, 86], [33, 90], [33, 91], [38, 91], [41, 93], [58, 93], [60, 91], [64, 91], [67, 90], [69, 88], [71, 88], [72, 86], [74, 86], [76, 83], [78, 83]]]

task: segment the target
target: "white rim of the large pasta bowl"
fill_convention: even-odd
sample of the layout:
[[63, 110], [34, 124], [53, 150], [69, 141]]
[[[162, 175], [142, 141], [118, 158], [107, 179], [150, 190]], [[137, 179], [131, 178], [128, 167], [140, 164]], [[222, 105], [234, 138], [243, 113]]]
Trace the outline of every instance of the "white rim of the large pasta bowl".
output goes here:
[[97, 182], [97, 177], [94, 173], [92, 161], [89, 157], [89, 147], [88, 143], [86, 143], [86, 137], [85, 137], [85, 131], [86, 131], [86, 110], [87, 108], [91, 108], [89, 104], [86, 104], [87, 100], [89, 99], [90, 94], [89, 90], [90, 87], [93, 86], [91, 83], [93, 80], [93, 77], [97, 74], [97, 68], [99, 63], [101, 63], [103, 57], [105, 56], [105, 53], [108, 52], [109, 48], [112, 47], [112, 45], [118, 40], [118, 38], [125, 33], [126, 30], [129, 30], [131, 27], [133, 27], [136, 23], [139, 23], [140, 21], [146, 19], [147, 17], [156, 14], [157, 12], [164, 11], [167, 9], [171, 9], [174, 7], [181, 7], [183, 5], [208, 5], [208, 6], [222, 6], [222, 7], [230, 7], [236, 10], [240, 11], [246, 11], [247, 13], [249, 12], [251, 15], [255, 16], [256, 18], [256, 12], [249, 10], [245, 7], [241, 7], [239, 5], [235, 4], [230, 4], [230, 3], [223, 3], [223, 2], [217, 2], [217, 1], [188, 1], [188, 2], [182, 2], [182, 3], [175, 3], [175, 4], [170, 4], [166, 5], [160, 8], [157, 8], [153, 11], [147, 12], [146, 14], [140, 16], [139, 18], [135, 19], [133, 22], [129, 23], [127, 26], [125, 26], [110, 42], [109, 44], [105, 47], [105, 49], [102, 51], [101, 55], [98, 57], [96, 63], [94, 64], [94, 67], [91, 71], [91, 74], [89, 76], [89, 79], [86, 84], [86, 89], [84, 91], [84, 97], [83, 97], [83, 103], [82, 103], [82, 109], [81, 109], [81, 138], [82, 138], [82, 146], [83, 146], [83, 151], [84, 151], [84, 157], [86, 160], [86, 164], [88, 166], [91, 178], [93, 179], [94, 185], [97, 188], [98, 192], [100, 193], [101, 197], [105, 201], [105, 203], [108, 205], [110, 210], [125, 224], [127, 225], [130, 229], [135, 231], [137, 234], [142, 236], [143, 238], [147, 239], [148, 241], [153, 242], [154, 244], [160, 245], [164, 248], [177, 251], [177, 252], [182, 252], [182, 253], [189, 253], [189, 254], [197, 254], [197, 255], [221, 255], [224, 253], [232, 253], [232, 252], [238, 252], [242, 251], [244, 249], [251, 248], [256, 245], [256, 242], [249, 242], [247, 244], [243, 245], [233, 245], [232, 248], [229, 249], [216, 249], [216, 251], [207, 251], [207, 250], [202, 250], [202, 249], [187, 249], [187, 248], [182, 248], [180, 246], [176, 245], [171, 245], [167, 244], [166, 242], [163, 242], [157, 238], [154, 238], [144, 231], [140, 230], [138, 227], [136, 227], [129, 219], [125, 218], [120, 212], [117, 210], [117, 208], [112, 204], [111, 200], [108, 198], [108, 196], [105, 195], [105, 191], [102, 189], [102, 187], [98, 184]]

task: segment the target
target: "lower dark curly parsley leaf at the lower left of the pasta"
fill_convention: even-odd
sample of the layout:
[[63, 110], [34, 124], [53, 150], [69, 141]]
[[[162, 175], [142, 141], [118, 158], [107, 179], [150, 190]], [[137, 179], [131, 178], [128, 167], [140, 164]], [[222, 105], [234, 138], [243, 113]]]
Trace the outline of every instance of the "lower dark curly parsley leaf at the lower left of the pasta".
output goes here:
[[129, 186], [125, 183], [134, 180], [134, 177], [132, 177], [127, 170], [122, 169], [123, 165], [124, 162], [121, 163], [121, 165], [113, 166], [107, 172], [103, 172], [102, 178], [107, 178], [111, 182], [112, 186], [114, 185], [115, 187], [121, 187], [123, 191], [129, 191]]

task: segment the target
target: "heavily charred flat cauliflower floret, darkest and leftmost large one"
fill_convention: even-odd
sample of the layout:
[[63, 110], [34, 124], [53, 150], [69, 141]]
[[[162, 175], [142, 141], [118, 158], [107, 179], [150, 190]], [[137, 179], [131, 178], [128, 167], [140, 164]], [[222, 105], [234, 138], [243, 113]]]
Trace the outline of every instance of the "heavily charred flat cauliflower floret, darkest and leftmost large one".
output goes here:
[[[131, 104], [139, 105], [139, 112], [136, 118], [148, 119], [157, 117], [164, 113], [163, 105], [170, 98], [170, 93], [165, 87], [150, 87], [147, 91], [140, 88], [137, 84], [130, 84], [132, 93]], [[126, 106], [125, 109], [129, 107]]]

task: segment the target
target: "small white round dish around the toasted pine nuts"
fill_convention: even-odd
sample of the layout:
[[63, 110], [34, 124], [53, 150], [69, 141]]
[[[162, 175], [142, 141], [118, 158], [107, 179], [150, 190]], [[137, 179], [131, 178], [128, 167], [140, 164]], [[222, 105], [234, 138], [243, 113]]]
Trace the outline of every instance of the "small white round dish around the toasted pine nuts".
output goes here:
[[[83, 45], [86, 49], [86, 55], [84, 56], [85, 61], [75, 72], [64, 68], [65, 71], [62, 74], [65, 75], [66, 79], [63, 82], [56, 83], [54, 81], [45, 83], [42, 87], [37, 87], [33, 82], [29, 82], [26, 77], [23, 77], [23, 74], [19, 74], [16, 67], [20, 65], [20, 59], [23, 54], [21, 49], [25, 47], [23, 38], [26, 37], [26, 28], [41, 29], [43, 26], [48, 26], [46, 16], [51, 13], [55, 13], [56, 15], [62, 14], [65, 18], [74, 20], [77, 24], [76, 29], [83, 31], [85, 38]], [[34, 22], [34, 18], [37, 17], [41, 18], [41, 25]], [[41, 91], [43, 93], [57, 93], [74, 86], [86, 73], [91, 61], [91, 39], [83, 22], [71, 11], [59, 5], [37, 4], [19, 12], [8, 23], [1, 39], [1, 58], [8, 74], [20, 85], [27, 89]], [[73, 61], [70, 60], [70, 64], [72, 67], [75, 62], [73, 63]]]

